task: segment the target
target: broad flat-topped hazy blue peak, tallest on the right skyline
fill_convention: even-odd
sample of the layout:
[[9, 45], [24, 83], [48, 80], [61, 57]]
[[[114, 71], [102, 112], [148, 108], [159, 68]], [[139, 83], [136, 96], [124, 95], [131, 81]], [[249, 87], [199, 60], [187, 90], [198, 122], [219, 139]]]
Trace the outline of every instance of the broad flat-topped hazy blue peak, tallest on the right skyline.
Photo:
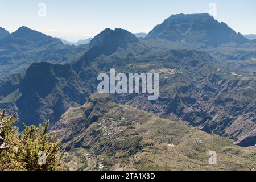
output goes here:
[[226, 23], [218, 22], [208, 13], [171, 15], [162, 24], [156, 26], [146, 38], [203, 43], [213, 47], [229, 42], [243, 43], [247, 41]]

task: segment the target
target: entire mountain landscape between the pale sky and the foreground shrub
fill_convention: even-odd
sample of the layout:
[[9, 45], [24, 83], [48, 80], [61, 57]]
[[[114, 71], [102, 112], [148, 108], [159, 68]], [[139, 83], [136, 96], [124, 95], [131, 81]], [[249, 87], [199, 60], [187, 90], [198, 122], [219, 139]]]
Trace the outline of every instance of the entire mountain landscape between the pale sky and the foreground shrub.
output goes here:
[[[95, 94], [98, 74], [111, 68], [159, 73], [158, 100]], [[223, 159], [210, 169], [244, 169], [255, 159], [255, 70], [256, 42], [209, 14], [172, 15], [145, 38], [106, 28], [80, 46], [21, 27], [0, 40], [0, 109], [27, 125], [50, 119], [67, 163], [78, 152], [82, 169], [201, 169], [210, 148]]]

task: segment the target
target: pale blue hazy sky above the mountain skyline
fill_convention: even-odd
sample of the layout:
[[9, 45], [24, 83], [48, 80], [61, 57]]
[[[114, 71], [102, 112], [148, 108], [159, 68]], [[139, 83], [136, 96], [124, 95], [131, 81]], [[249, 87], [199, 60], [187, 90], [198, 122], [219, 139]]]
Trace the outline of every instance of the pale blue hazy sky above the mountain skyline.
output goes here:
[[[39, 3], [46, 5], [45, 17], [38, 15]], [[255, 0], [0, 0], [0, 27], [13, 32], [27, 26], [76, 41], [105, 28], [149, 32], [172, 14], [208, 13], [210, 3], [217, 5], [217, 20], [242, 34], [256, 34]]]

